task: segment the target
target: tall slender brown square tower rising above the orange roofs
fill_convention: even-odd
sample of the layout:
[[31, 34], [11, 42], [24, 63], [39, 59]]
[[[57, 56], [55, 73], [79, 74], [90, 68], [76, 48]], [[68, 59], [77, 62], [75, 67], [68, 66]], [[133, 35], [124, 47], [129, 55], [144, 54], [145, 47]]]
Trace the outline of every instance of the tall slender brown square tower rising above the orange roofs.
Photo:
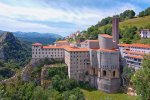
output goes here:
[[119, 18], [117, 16], [113, 17], [112, 20], [112, 35], [113, 35], [113, 42], [115, 48], [118, 48], [119, 44]]

